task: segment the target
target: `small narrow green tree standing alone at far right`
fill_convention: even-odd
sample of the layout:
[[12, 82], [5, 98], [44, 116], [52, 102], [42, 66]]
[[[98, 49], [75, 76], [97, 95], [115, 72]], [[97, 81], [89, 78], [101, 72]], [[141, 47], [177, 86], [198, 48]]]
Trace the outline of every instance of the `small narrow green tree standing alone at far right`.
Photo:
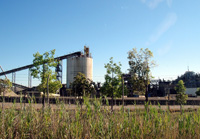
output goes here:
[[178, 81], [175, 90], [177, 92], [176, 101], [180, 105], [180, 110], [182, 113], [182, 105], [187, 102], [188, 96], [185, 94], [186, 88], [184, 86], [183, 80]]

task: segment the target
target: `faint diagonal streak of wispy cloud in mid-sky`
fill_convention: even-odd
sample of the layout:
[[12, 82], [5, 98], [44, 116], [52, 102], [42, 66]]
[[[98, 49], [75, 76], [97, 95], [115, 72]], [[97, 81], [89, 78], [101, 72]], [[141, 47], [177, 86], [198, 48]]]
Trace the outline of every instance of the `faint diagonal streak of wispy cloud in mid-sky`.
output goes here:
[[146, 45], [150, 45], [156, 42], [166, 31], [170, 29], [177, 21], [177, 15], [175, 13], [169, 14], [164, 21], [158, 26], [155, 33], [153, 33], [149, 40], [146, 42]]

